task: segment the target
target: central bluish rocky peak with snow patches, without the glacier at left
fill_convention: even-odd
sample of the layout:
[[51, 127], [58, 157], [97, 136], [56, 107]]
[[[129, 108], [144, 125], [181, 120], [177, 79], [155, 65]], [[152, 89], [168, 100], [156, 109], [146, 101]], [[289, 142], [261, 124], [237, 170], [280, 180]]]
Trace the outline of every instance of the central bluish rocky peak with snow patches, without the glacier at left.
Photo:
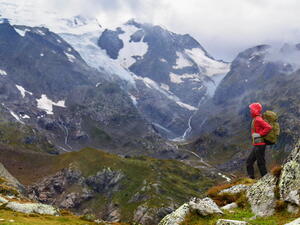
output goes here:
[[98, 45], [133, 73], [129, 93], [137, 108], [168, 138], [184, 139], [187, 121], [229, 69], [190, 35], [135, 20], [104, 30]]

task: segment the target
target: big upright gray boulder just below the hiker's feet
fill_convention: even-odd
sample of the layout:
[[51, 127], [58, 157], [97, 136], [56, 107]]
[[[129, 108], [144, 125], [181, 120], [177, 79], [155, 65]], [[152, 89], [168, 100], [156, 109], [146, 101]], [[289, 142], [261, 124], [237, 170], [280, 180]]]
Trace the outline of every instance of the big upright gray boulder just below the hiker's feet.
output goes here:
[[271, 216], [275, 212], [275, 187], [277, 178], [267, 174], [246, 192], [252, 212], [257, 216]]

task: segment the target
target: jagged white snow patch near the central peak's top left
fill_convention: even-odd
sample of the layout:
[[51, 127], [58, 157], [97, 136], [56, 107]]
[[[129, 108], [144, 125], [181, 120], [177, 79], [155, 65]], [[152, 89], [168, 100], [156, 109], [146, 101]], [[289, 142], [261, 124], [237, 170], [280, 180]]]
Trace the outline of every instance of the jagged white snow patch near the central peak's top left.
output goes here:
[[124, 47], [120, 50], [118, 60], [125, 68], [129, 68], [136, 62], [134, 56], [143, 58], [148, 51], [148, 44], [144, 42], [144, 38], [140, 42], [130, 42], [131, 35], [133, 35], [139, 29], [132, 25], [123, 25], [121, 29], [123, 34], [119, 35], [119, 38], [123, 41]]

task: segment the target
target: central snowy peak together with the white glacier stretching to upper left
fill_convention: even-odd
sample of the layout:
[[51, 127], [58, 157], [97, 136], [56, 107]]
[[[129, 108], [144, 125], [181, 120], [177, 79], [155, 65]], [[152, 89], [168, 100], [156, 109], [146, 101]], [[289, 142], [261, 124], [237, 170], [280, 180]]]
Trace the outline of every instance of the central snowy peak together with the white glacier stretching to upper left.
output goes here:
[[191, 36], [160, 26], [131, 20], [104, 29], [96, 19], [64, 18], [34, 1], [0, 0], [0, 6], [2, 20], [59, 34], [106, 80], [121, 85], [153, 128], [168, 138], [189, 133], [191, 117], [213, 96], [230, 67], [213, 59]]

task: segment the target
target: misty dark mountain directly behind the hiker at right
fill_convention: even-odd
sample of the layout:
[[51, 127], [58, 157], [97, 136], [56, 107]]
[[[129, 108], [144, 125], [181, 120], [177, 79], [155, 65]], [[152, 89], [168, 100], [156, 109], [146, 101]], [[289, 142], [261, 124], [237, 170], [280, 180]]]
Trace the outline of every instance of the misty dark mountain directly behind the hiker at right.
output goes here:
[[[251, 146], [248, 105], [261, 102], [279, 115], [280, 139], [271, 161], [281, 162], [299, 136], [299, 45], [260, 45], [241, 52], [214, 97], [193, 117], [193, 149], [220, 162], [220, 168], [240, 170]], [[271, 154], [272, 153], [272, 154]], [[222, 163], [221, 163], [222, 164]]]

